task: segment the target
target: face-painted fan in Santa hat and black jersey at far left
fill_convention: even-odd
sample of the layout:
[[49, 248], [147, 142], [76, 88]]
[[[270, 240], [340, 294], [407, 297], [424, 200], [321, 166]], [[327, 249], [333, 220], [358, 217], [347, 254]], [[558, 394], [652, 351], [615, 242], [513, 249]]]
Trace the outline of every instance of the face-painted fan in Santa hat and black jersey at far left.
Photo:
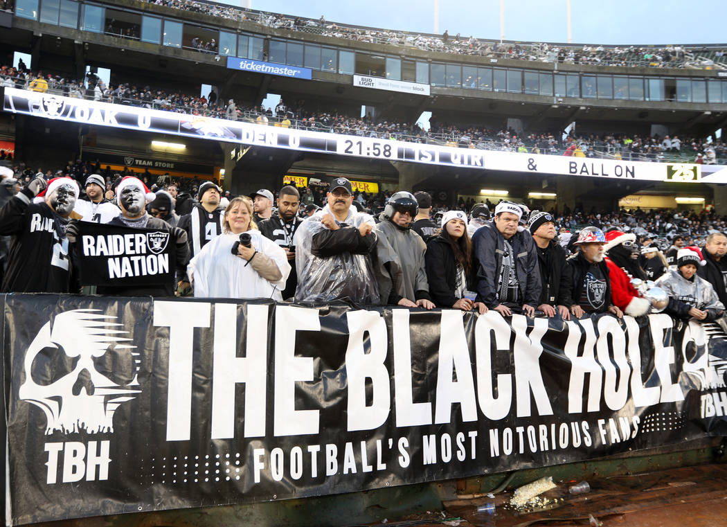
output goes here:
[[2, 292], [79, 290], [65, 232], [78, 196], [70, 177], [36, 177], [0, 210], [0, 235], [12, 236]]

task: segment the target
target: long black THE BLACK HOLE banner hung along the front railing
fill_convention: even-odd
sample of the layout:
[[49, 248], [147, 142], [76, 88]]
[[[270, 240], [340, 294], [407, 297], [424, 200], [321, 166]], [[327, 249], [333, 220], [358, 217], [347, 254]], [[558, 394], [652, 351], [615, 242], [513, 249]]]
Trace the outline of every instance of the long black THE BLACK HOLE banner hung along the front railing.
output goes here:
[[727, 433], [727, 334], [270, 301], [9, 294], [7, 518], [318, 496]]

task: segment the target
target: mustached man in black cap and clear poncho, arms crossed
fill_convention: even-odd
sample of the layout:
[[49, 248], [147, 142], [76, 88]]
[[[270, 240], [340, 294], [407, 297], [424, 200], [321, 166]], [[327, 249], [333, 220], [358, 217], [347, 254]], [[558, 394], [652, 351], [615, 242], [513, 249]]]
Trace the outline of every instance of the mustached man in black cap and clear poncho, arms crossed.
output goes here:
[[371, 253], [377, 243], [374, 218], [357, 212], [351, 182], [337, 177], [323, 209], [302, 222], [293, 239], [298, 286], [296, 302], [348, 298], [378, 304], [379, 289]]

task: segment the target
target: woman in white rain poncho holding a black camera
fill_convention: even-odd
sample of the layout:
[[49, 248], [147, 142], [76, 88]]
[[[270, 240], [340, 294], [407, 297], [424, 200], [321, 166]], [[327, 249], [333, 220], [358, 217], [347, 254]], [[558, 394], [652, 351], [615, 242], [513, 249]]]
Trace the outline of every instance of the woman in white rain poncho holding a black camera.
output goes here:
[[[209, 241], [189, 263], [194, 296], [281, 301], [290, 264], [285, 251], [257, 230], [249, 198], [230, 201], [224, 228], [224, 233]], [[239, 244], [237, 254], [232, 254], [242, 233], [250, 235], [250, 246]]]

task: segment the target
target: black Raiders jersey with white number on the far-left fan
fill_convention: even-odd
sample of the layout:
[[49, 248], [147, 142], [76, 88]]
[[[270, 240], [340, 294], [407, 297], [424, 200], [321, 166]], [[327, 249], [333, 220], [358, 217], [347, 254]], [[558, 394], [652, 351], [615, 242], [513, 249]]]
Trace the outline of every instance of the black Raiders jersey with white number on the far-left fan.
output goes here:
[[12, 236], [2, 292], [68, 293], [73, 271], [68, 259], [68, 220], [47, 204], [31, 203], [24, 191], [0, 210], [0, 235]]

